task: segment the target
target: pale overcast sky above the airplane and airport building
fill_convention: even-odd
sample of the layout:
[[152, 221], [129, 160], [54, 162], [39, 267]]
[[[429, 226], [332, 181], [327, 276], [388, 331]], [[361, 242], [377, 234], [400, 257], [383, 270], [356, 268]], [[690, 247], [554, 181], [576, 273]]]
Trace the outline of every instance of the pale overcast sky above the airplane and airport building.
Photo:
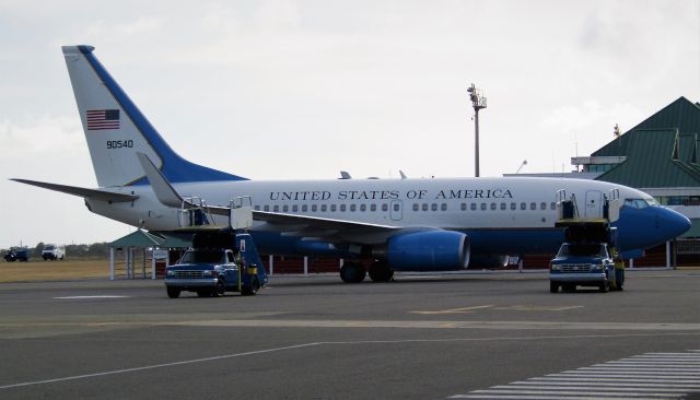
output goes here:
[[569, 172], [618, 123], [700, 101], [700, 0], [0, 1], [0, 248], [135, 228], [96, 187], [60, 46], [95, 55], [182, 156], [252, 179]]

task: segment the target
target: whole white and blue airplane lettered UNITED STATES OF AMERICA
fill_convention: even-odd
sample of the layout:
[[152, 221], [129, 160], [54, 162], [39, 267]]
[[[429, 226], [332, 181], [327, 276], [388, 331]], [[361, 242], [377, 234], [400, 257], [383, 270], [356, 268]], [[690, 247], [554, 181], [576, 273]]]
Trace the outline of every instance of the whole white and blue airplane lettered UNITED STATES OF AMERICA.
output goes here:
[[[503, 266], [509, 255], [555, 252], [559, 190], [599, 214], [617, 189], [625, 205], [614, 223], [623, 255], [690, 228], [684, 215], [629, 187], [563, 178], [249, 180], [180, 157], [148, 121], [91, 46], [62, 48], [100, 185], [96, 189], [14, 179], [84, 198], [100, 215], [155, 232], [179, 226], [182, 198], [226, 207], [250, 197], [252, 227], [261, 252], [348, 259], [346, 282], [394, 271], [445, 271]], [[217, 217], [214, 215], [214, 217]], [[223, 216], [221, 216], [223, 219]]]

